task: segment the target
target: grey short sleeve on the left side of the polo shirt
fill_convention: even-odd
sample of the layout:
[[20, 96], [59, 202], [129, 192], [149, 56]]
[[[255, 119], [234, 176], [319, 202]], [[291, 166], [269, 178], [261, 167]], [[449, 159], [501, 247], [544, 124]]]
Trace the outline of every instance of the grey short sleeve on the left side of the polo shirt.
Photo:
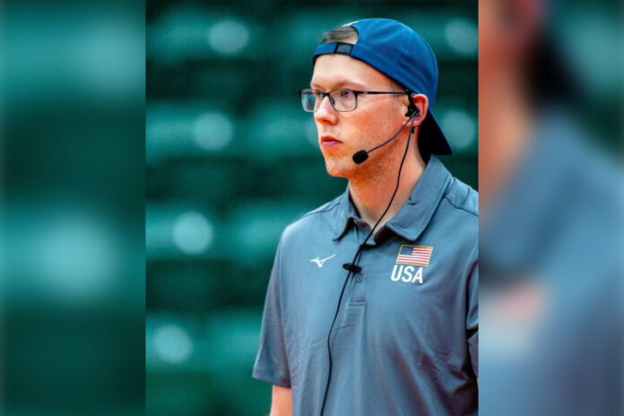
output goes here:
[[290, 371], [282, 326], [279, 245], [269, 278], [269, 286], [266, 290], [260, 329], [260, 346], [252, 377], [272, 385], [290, 387]]

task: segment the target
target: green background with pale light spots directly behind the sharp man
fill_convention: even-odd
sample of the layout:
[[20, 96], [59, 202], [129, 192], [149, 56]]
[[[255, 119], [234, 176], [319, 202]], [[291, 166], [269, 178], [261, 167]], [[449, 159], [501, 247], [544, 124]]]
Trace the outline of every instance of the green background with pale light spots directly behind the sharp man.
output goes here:
[[477, 3], [147, 2], [146, 412], [266, 414], [251, 378], [284, 227], [344, 190], [299, 104], [325, 30], [404, 22], [438, 57], [443, 159], [477, 186]]

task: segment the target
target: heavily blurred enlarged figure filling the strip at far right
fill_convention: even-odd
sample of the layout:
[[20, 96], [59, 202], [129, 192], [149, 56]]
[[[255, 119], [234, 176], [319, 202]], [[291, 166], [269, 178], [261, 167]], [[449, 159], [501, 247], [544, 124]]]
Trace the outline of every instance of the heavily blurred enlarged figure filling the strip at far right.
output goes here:
[[484, 415], [620, 411], [621, 175], [547, 5], [480, 4]]

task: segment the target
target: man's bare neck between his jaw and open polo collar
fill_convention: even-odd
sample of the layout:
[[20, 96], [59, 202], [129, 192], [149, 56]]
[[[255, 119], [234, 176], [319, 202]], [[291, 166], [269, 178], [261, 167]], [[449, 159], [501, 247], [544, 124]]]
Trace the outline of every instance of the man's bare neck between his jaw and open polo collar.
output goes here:
[[[394, 169], [385, 169], [377, 172], [372, 176], [375, 178], [374, 180], [371, 180], [371, 176], [368, 176], [368, 178], [351, 178], [349, 180], [349, 191], [353, 204], [360, 212], [361, 219], [366, 221], [370, 228], [375, 225], [390, 202], [396, 187], [398, 169], [399, 166], [396, 164]], [[420, 157], [405, 160], [401, 172], [401, 181], [394, 196], [394, 201], [384, 218], [379, 221], [376, 231], [380, 230], [386, 221], [389, 221], [401, 210], [405, 201], [412, 195], [412, 190], [424, 169], [425, 162]]]

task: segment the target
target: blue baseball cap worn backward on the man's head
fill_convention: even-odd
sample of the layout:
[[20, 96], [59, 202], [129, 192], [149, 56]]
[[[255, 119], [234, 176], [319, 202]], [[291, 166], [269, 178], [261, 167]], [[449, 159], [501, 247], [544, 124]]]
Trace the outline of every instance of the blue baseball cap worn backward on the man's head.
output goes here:
[[452, 154], [451, 146], [432, 114], [438, 89], [438, 62], [425, 39], [392, 19], [362, 19], [344, 26], [357, 30], [356, 42], [319, 43], [312, 65], [317, 56], [348, 55], [386, 74], [410, 92], [426, 95], [429, 111], [420, 125], [420, 153], [426, 158], [431, 153]]

